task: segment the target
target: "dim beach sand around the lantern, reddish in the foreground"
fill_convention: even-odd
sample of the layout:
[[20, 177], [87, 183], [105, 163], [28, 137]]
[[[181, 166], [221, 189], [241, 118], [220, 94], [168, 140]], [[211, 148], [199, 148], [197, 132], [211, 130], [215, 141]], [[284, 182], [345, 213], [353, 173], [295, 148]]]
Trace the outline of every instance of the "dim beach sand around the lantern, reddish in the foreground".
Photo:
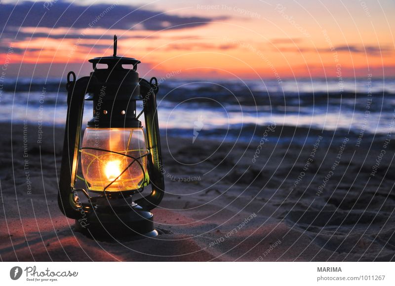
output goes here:
[[102, 242], [75, 232], [58, 208], [63, 130], [45, 127], [37, 143], [38, 130], [28, 124], [24, 146], [23, 125], [0, 125], [2, 261], [395, 259], [395, 144], [380, 156], [383, 136], [357, 145], [345, 131], [276, 126], [250, 143], [162, 137], [158, 237]]

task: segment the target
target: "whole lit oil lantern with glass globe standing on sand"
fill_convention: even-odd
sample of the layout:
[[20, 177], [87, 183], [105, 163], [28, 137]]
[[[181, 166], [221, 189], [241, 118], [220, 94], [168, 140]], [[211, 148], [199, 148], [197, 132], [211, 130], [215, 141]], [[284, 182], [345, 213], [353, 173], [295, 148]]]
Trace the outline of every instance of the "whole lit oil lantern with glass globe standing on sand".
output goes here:
[[[68, 110], [59, 207], [63, 214], [76, 220], [78, 231], [94, 238], [156, 236], [150, 211], [164, 194], [156, 102], [158, 81], [155, 77], [150, 81], [139, 78], [140, 61], [117, 56], [117, 36], [113, 56], [89, 62], [93, 64], [90, 76], [76, 80], [74, 72], [67, 75]], [[101, 69], [98, 64], [107, 68]], [[93, 101], [93, 117], [81, 143], [84, 101]], [[143, 101], [139, 114], [137, 101]], [[146, 131], [139, 121], [143, 113]], [[83, 176], [78, 175], [79, 165]], [[86, 187], [78, 188], [77, 179]], [[148, 185], [151, 193], [142, 196], [140, 193]], [[81, 195], [86, 199], [80, 199]], [[133, 195], [139, 198], [133, 201]]]

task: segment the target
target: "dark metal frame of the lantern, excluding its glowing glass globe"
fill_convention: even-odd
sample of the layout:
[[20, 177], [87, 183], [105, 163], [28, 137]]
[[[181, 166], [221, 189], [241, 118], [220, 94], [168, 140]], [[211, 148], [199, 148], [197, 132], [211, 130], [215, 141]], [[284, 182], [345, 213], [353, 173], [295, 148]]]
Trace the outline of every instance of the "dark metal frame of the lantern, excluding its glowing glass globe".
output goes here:
[[[150, 81], [139, 78], [137, 64], [140, 61], [117, 56], [117, 36], [114, 36], [113, 56], [94, 58], [89, 62], [93, 64], [94, 70], [90, 76], [77, 80], [74, 72], [67, 75], [68, 110], [59, 177], [59, 208], [67, 217], [76, 220], [76, 230], [95, 239], [157, 236], [151, 210], [158, 206], [164, 195], [156, 101], [158, 81], [155, 77]], [[98, 64], [107, 64], [108, 68], [98, 69]], [[122, 65], [132, 65], [133, 68], [124, 69]], [[103, 87], [107, 91], [104, 97], [100, 96]], [[93, 101], [94, 107], [94, 117], [89, 120], [87, 127], [141, 127], [138, 118], [144, 112], [148, 148], [144, 156], [148, 159], [147, 170], [152, 187], [149, 195], [141, 196], [136, 201], [132, 199], [132, 194], [142, 192], [144, 184], [143, 188], [136, 190], [104, 190], [99, 196], [91, 196], [88, 190], [76, 188], [84, 101]], [[136, 101], [143, 101], [143, 110], [137, 116]], [[110, 114], [95, 113], [99, 104], [100, 110], [106, 108]], [[122, 111], [117, 112], [119, 110]], [[133, 162], [136, 161], [134, 158]], [[80, 201], [79, 193], [86, 196], [87, 203]]]

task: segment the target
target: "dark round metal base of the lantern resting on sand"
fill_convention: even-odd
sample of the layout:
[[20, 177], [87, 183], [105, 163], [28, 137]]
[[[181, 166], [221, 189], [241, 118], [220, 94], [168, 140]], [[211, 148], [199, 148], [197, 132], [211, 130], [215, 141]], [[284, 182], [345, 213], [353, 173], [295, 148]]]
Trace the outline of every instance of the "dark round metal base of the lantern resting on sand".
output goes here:
[[137, 204], [95, 206], [85, 217], [76, 219], [75, 229], [100, 241], [130, 241], [156, 237], [154, 215]]

